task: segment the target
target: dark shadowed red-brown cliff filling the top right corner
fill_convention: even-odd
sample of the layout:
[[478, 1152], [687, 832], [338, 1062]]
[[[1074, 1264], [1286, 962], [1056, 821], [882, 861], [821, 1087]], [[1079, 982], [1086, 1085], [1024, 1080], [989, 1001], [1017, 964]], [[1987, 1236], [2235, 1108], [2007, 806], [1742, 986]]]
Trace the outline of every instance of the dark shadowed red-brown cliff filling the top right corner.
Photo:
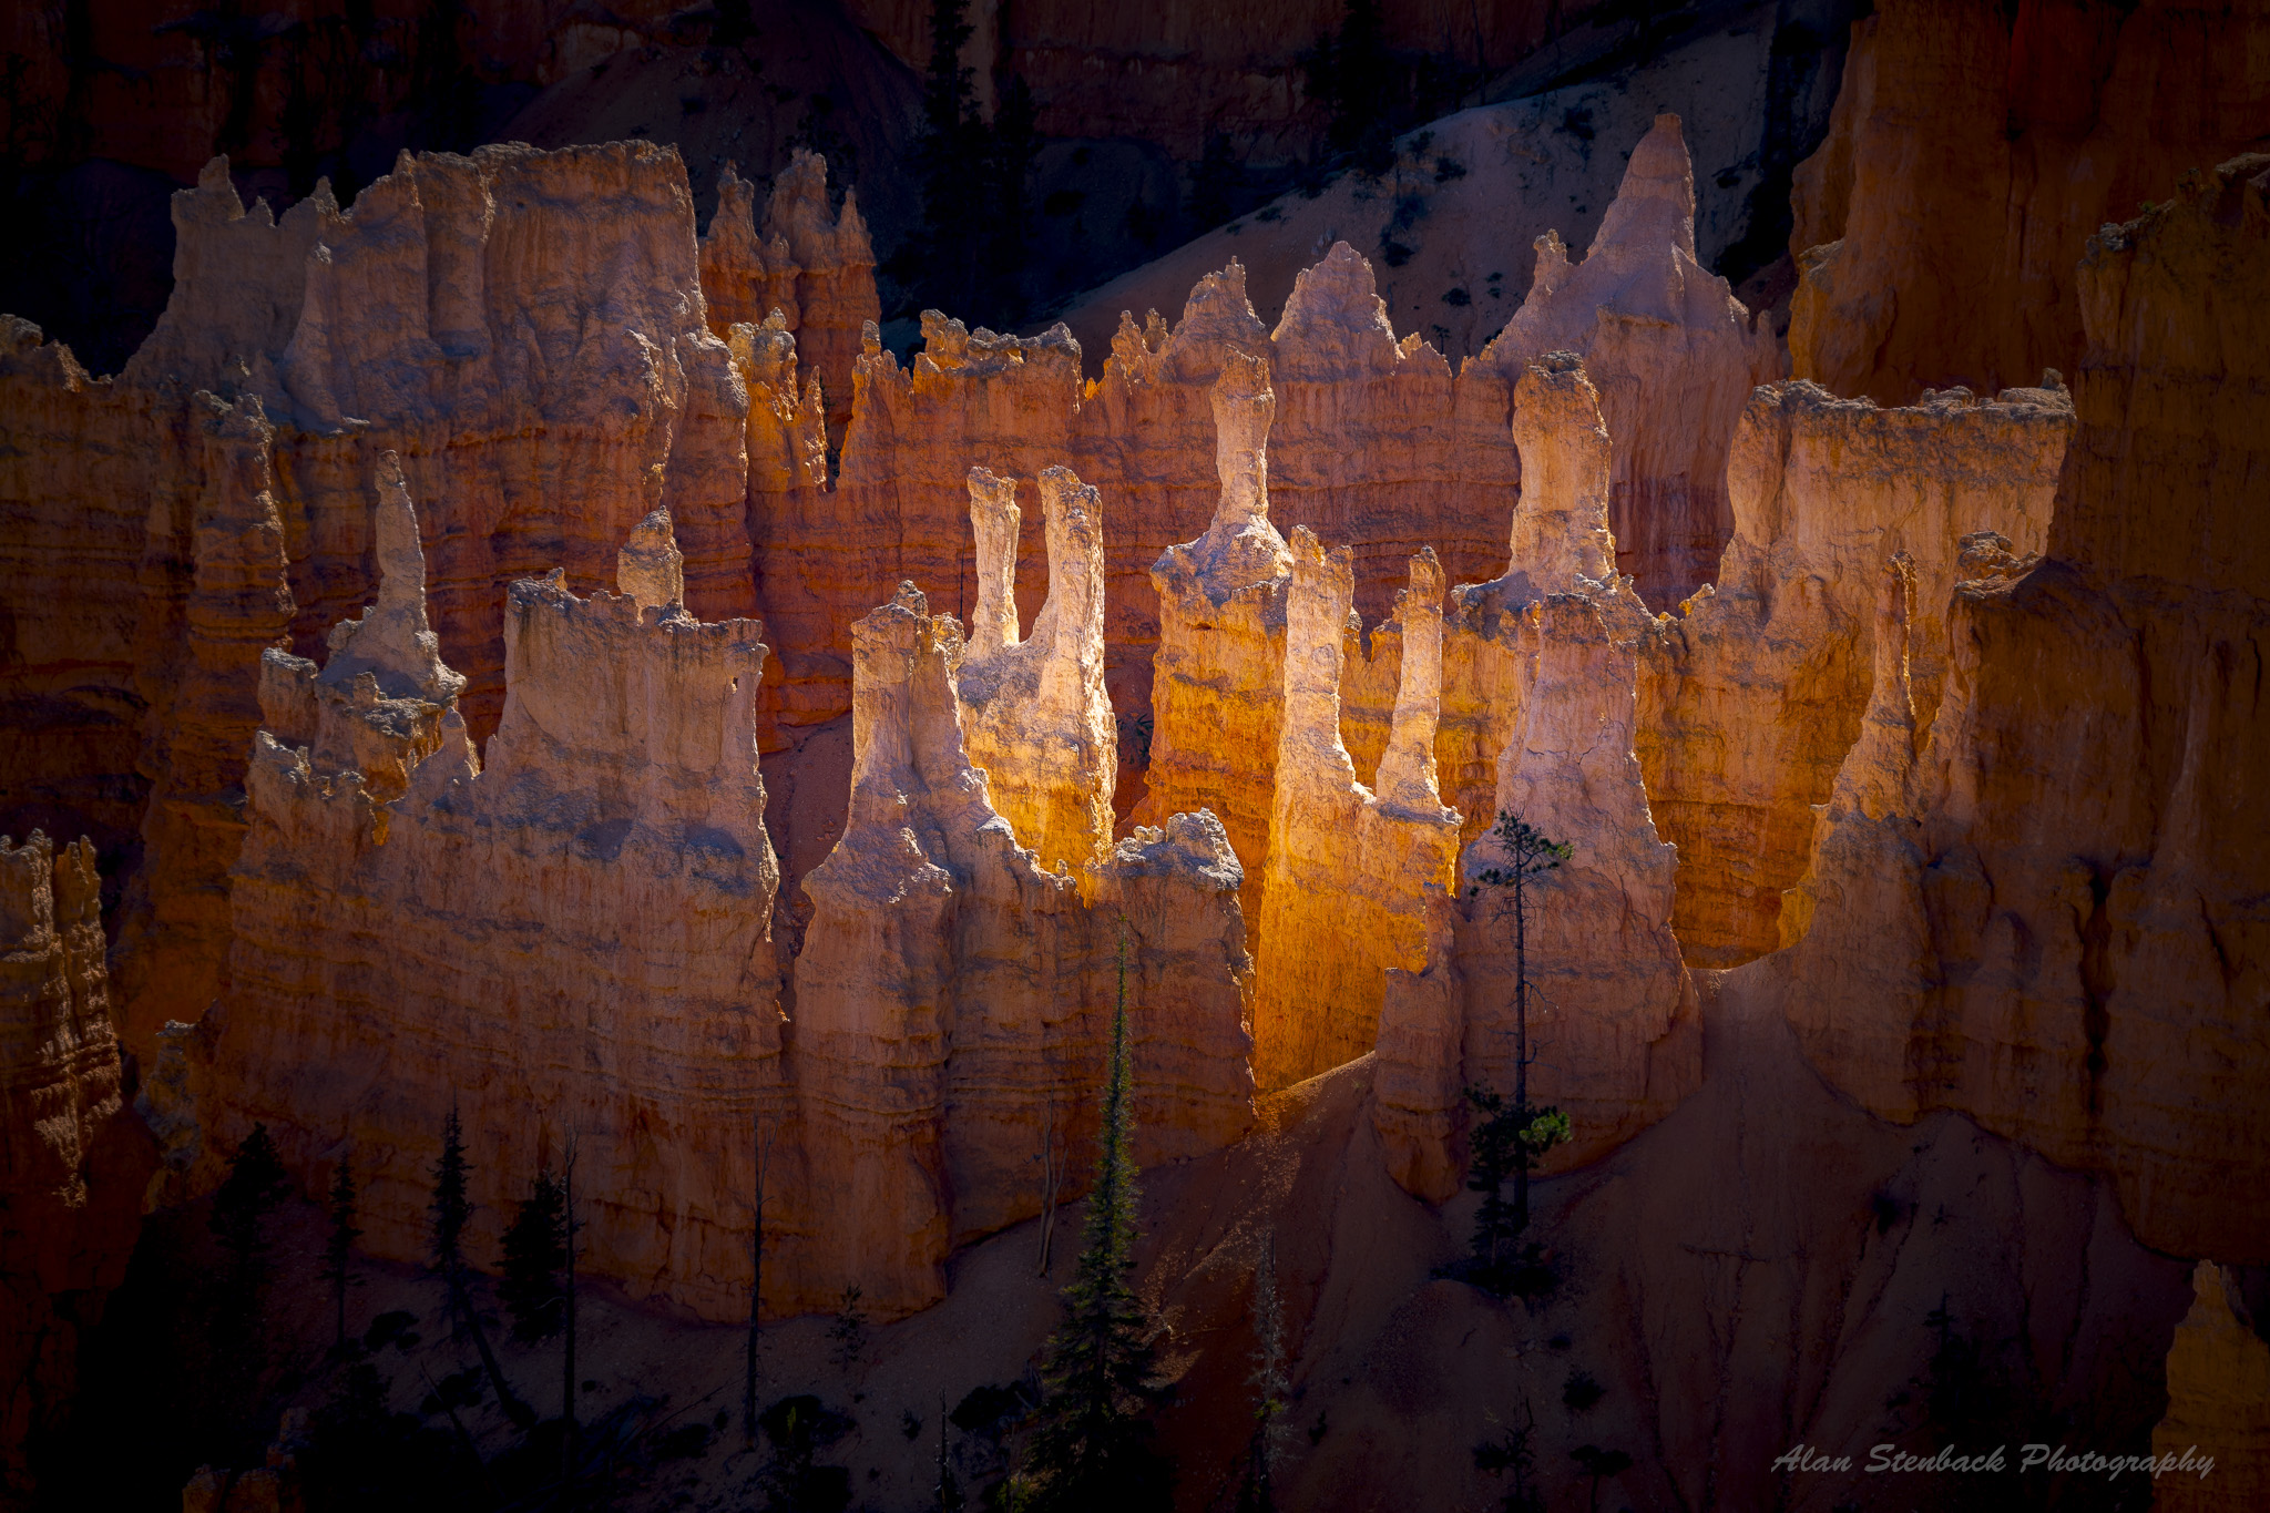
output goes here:
[[2084, 349], [2091, 231], [2270, 134], [2270, 7], [1886, 0], [1798, 170], [1789, 356], [1839, 395], [1993, 392]]

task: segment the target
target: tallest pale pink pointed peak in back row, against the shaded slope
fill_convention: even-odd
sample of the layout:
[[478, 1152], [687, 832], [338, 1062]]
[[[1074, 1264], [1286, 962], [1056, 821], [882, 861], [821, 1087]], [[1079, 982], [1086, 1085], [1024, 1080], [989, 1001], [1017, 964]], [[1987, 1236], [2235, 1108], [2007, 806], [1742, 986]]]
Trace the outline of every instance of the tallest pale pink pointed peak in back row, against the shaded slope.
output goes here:
[[1580, 354], [1600, 388], [1616, 572], [1648, 603], [1680, 603], [1718, 574], [1734, 533], [1727, 442], [1743, 395], [1780, 377], [1780, 354], [1727, 281], [1696, 261], [1693, 163], [1678, 116], [1657, 116], [1632, 150], [1580, 263], [1557, 234], [1537, 240], [1530, 293], [1478, 363], [1519, 379], [1546, 352]]

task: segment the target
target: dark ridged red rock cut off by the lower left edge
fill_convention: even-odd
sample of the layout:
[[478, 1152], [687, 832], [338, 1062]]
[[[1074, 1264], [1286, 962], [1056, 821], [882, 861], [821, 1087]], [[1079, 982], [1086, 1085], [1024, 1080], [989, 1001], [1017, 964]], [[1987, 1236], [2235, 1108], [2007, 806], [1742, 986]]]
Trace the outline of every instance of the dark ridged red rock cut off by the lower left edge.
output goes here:
[[0, 1497], [61, 1427], [79, 1329], [125, 1279], [145, 1141], [120, 1116], [95, 848], [0, 837]]

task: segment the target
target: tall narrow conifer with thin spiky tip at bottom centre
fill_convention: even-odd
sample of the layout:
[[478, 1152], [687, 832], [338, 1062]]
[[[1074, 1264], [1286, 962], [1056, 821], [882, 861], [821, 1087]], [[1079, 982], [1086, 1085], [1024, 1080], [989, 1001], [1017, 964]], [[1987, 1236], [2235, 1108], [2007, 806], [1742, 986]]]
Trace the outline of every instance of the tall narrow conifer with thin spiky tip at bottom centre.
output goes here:
[[1135, 1295], [1135, 1107], [1128, 1068], [1128, 948], [1119, 941], [1119, 1007], [1096, 1182], [1065, 1322], [1049, 1336], [1035, 1413], [1033, 1506], [1042, 1513], [1135, 1513], [1174, 1502], [1174, 1470], [1151, 1445], [1149, 1318]]

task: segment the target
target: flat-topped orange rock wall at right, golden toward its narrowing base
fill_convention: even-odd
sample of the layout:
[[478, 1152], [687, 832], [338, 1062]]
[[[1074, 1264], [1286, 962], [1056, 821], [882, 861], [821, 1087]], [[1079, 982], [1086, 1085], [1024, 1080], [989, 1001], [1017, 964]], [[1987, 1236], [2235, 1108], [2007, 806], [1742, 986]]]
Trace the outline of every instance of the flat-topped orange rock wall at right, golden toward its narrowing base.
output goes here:
[[1930, 728], [1948, 667], [1948, 594], [1979, 553], [2038, 553], [2073, 399], [1964, 390], [1909, 408], [1811, 383], [1750, 395], [1727, 465], [1734, 540], [1718, 583], [1648, 635], [1639, 760], [1680, 848], [1687, 960], [1732, 966], [1782, 944], [1782, 891], [1805, 871], [1814, 810], [1870, 699], [1875, 578], [1916, 583], [1907, 658]]

